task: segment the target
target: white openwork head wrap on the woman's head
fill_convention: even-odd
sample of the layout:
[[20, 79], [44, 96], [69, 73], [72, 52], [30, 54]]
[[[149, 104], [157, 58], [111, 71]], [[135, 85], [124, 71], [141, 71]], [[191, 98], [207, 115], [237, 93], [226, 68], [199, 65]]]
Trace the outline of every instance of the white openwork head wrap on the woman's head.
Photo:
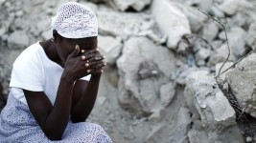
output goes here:
[[86, 38], [98, 35], [96, 14], [79, 3], [68, 2], [59, 7], [52, 18], [52, 29], [65, 38]]

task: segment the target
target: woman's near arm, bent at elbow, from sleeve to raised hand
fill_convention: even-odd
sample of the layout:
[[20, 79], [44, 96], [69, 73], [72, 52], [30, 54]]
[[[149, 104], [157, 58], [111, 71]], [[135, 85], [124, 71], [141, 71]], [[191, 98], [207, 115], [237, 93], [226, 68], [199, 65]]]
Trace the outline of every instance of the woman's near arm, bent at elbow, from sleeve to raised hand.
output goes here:
[[44, 92], [23, 90], [30, 111], [45, 135], [51, 140], [60, 140], [67, 126], [72, 105], [74, 82], [88, 73], [77, 56], [76, 49], [68, 56], [64, 71], [60, 77], [58, 92], [54, 105]]

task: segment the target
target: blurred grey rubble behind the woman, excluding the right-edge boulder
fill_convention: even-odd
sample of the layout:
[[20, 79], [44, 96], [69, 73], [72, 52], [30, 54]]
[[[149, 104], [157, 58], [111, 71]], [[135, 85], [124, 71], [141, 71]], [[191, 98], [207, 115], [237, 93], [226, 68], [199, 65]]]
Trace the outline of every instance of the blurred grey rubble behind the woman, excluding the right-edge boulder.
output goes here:
[[[52, 37], [51, 17], [67, 1], [0, 0], [3, 94], [17, 55]], [[239, 129], [215, 79], [228, 54], [221, 72], [244, 58], [220, 78], [256, 117], [256, 54], [245, 56], [256, 46], [256, 1], [77, 1], [96, 12], [98, 46], [108, 63], [88, 121], [101, 124], [114, 142], [256, 141]]]

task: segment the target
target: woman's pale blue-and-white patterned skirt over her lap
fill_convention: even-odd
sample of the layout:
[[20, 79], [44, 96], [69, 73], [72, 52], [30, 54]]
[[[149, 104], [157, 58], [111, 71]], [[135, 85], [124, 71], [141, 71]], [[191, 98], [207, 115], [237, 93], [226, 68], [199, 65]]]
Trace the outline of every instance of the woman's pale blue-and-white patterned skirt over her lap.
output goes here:
[[112, 143], [104, 129], [94, 123], [68, 122], [62, 140], [51, 141], [41, 131], [27, 105], [23, 104], [12, 94], [8, 103], [0, 114], [0, 142], [26, 143]]

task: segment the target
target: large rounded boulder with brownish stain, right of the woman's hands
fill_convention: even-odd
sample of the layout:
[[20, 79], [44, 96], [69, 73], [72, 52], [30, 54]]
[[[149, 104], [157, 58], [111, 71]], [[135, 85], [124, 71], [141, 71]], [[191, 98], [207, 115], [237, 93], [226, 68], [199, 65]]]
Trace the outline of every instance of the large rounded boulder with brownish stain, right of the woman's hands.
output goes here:
[[155, 46], [145, 37], [134, 37], [125, 43], [117, 67], [122, 106], [131, 112], [150, 113], [160, 106], [158, 91], [170, 82], [175, 57], [172, 51]]

